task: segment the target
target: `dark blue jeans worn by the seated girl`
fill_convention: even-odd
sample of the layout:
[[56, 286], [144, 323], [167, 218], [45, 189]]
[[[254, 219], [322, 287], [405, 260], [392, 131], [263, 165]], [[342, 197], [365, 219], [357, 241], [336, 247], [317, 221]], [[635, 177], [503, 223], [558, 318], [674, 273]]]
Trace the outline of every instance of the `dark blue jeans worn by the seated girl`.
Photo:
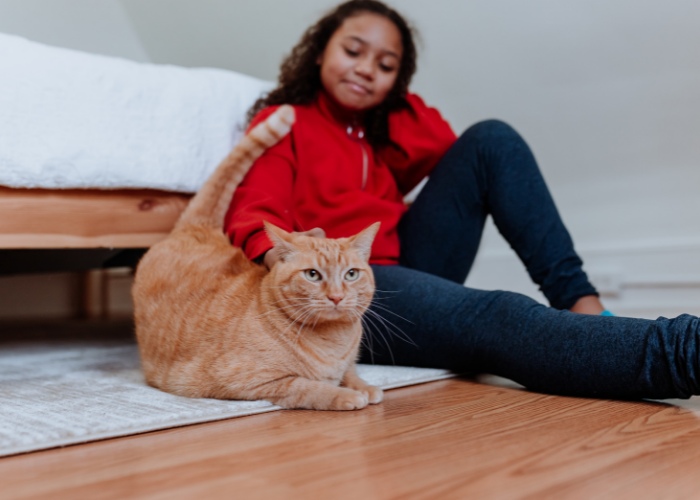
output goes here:
[[[552, 307], [463, 286], [487, 215]], [[399, 228], [401, 262], [373, 266], [362, 362], [491, 373], [528, 389], [604, 398], [700, 394], [700, 319], [574, 314], [595, 294], [537, 163], [508, 125], [467, 130]]]

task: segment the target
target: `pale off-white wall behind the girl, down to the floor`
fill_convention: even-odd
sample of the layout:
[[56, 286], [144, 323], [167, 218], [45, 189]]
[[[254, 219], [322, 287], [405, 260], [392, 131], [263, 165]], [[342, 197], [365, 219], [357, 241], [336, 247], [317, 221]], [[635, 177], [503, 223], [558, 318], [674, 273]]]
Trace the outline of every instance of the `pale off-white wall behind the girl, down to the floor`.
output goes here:
[[[268, 79], [336, 3], [120, 1], [152, 60]], [[523, 133], [608, 303], [700, 312], [700, 2], [392, 4], [424, 41], [414, 90], [457, 130]], [[540, 297], [493, 228], [468, 283]]]

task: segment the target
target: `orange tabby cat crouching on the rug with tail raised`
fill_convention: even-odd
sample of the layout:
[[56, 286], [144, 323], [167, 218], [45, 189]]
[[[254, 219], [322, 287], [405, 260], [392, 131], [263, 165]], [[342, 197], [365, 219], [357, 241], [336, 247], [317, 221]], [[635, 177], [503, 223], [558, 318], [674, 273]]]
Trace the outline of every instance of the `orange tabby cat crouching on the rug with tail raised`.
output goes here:
[[256, 126], [139, 263], [136, 336], [154, 387], [319, 410], [382, 400], [381, 389], [355, 371], [361, 318], [374, 293], [368, 259], [379, 224], [342, 239], [266, 224], [281, 257], [270, 271], [221, 230], [233, 190], [293, 121], [293, 108], [282, 106]]

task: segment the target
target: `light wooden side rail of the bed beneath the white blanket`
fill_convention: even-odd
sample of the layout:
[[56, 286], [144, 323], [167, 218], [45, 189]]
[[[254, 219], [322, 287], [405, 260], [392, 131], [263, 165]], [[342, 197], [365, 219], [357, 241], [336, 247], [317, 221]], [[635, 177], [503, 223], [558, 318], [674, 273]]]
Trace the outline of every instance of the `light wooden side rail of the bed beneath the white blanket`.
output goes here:
[[0, 249], [148, 248], [189, 199], [156, 190], [0, 187]]

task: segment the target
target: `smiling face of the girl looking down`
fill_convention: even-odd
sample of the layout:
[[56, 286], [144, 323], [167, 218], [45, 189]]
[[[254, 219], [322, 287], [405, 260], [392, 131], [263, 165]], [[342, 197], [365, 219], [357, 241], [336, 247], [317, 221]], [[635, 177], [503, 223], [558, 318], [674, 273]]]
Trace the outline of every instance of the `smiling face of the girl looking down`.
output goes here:
[[371, 109], [394, 87], [402, 53], [401, 33], [389, 19], [368, 12], [349, 17], [318, 59], [321, 84], [347, 110]]

